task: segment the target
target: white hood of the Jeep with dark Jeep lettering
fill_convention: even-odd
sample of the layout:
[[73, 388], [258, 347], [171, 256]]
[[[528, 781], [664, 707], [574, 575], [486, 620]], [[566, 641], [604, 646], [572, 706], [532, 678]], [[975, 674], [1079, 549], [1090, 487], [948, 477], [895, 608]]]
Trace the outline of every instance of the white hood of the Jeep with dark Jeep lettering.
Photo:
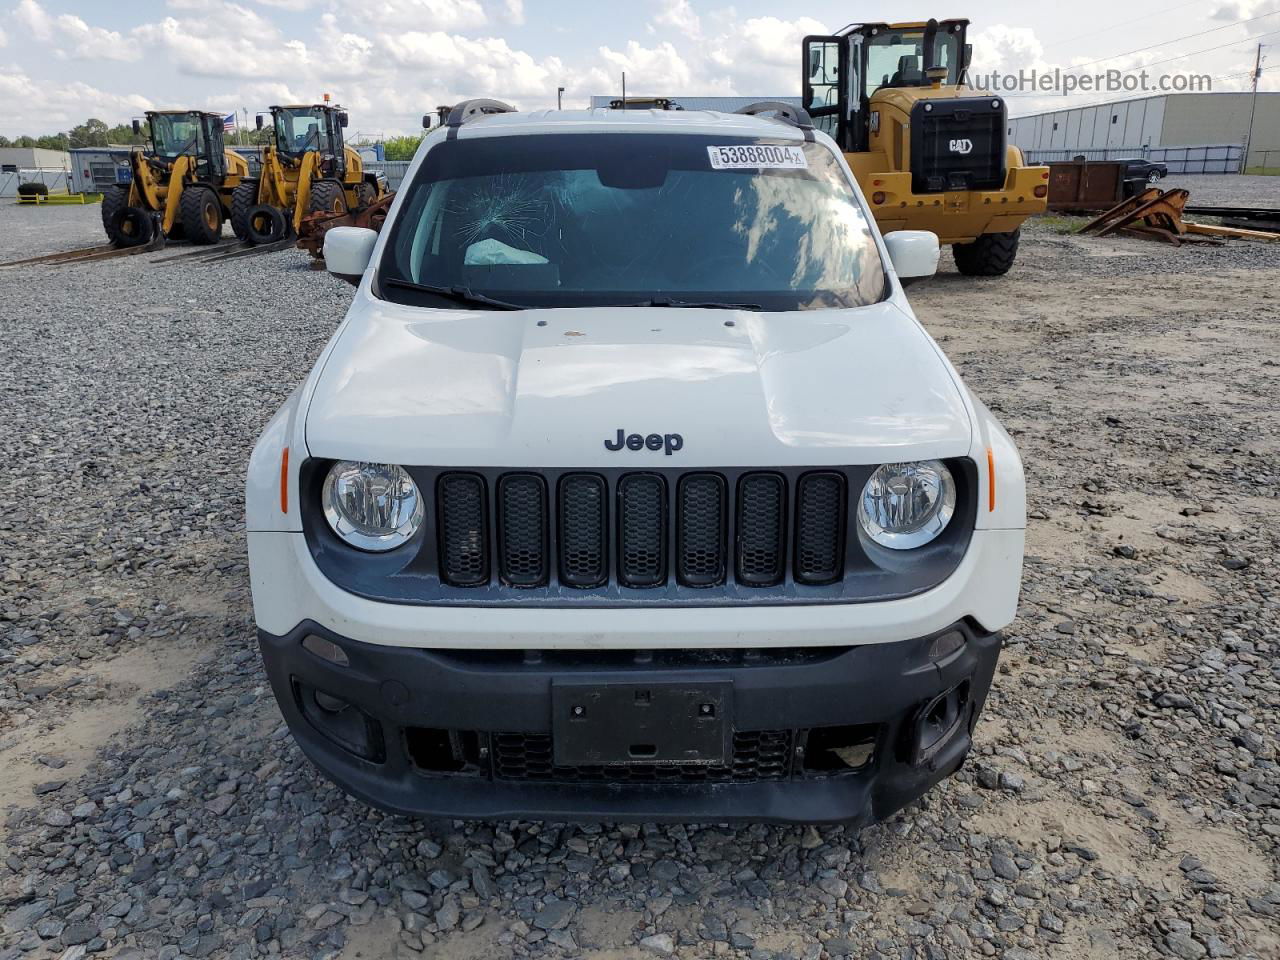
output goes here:
[[[817, 466], [959, 457], [972, 436], [954, 371], [893, 302], [460, 311], [362, 291], [314, 376], [306, 442], [326, 458]], [[618, 430], [684, 443], [611, 451]]]

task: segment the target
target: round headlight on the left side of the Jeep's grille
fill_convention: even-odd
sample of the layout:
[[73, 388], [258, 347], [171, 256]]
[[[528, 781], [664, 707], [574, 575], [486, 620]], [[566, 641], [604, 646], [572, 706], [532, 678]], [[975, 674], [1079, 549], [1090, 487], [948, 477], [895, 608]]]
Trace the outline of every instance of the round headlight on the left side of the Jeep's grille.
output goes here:
[[320, 494], [329, 526], [362, 550], [392, 550], [422, 526], [422, 495], [394, 463], [334, 463]]

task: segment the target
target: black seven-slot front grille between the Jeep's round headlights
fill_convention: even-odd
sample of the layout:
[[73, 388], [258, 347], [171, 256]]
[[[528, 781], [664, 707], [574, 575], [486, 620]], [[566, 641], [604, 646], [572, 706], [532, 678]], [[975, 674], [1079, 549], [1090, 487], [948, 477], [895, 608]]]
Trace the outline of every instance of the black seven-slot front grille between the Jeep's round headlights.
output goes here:
[[[582, 589], [612, 582], [644, 590], [672, 580], [710, 588], [724, 584], [730, 571], [740, 585], [772, 586], [787, 575], [788, 522], [795, 525], [791, 573], [797, 584], [832, 584], [845, 570], [847, 484], [835, 471], [801, 475], [790, 495], [781, 474], [744, 474], [732, 509], [730, 485], [709, 471], [669, 481], [657, 472], [622, 474], [613, 484], [596, 474], [564, 474], [554, 512], [538, 474], [504, 474], [495, 485], [490, 509], [481, 476], [447, 472], [436, 480], [444, 582], [485, 585], [495, 568], [502, 585], [534, 588], [548, 584], [557, 568], [562, 585]], [[490, 515], [497, 563], [489, 557]]]

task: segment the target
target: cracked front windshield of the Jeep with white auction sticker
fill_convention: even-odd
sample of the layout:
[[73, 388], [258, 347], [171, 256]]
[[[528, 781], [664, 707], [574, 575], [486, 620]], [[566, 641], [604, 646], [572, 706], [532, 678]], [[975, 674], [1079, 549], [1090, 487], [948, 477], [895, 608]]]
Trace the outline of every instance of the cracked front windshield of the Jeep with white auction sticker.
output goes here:
[[820, 143], [458, 138], [426, 154], [404, 193], [374, 292], [406, 305], [773, 312], [858, 307], [888, 289], [868, 216]]

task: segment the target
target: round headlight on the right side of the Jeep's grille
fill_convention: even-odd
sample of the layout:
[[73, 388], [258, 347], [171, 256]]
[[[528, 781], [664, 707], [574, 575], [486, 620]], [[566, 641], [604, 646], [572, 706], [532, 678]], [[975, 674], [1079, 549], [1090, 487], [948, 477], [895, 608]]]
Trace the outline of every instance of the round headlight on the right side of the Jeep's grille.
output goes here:
[[956, 481], [937, 460], [884, 463], [863, 488], [858, 522], [881, 547], [909, 550], [941, 534], [956, 512]]

